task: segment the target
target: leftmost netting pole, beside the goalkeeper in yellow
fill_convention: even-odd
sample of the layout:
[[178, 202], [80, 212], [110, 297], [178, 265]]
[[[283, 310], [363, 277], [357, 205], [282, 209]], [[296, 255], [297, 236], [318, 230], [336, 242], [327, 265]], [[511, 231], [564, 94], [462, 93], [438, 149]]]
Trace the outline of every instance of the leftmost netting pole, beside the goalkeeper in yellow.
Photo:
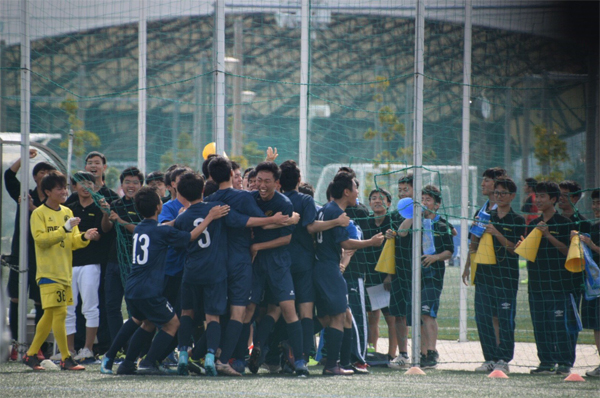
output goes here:
[[31, 106], [29, 2], [21, 0], [21, 206], [19, 216], [19, 359], [27, 344], [27, 268], [29, 265], [29, 129]]

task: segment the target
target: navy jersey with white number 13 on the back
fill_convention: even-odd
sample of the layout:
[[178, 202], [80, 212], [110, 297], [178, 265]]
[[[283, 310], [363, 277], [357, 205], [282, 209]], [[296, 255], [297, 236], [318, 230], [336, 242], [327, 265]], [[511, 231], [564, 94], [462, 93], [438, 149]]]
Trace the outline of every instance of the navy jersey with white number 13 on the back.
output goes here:
[[190, 241], [190, 233], [158, 221], [144, 219], [133, 231], [132, 266], [125, 286], [125, 298], [160, 297], [165, 280], [167, 247], [181, 247]]

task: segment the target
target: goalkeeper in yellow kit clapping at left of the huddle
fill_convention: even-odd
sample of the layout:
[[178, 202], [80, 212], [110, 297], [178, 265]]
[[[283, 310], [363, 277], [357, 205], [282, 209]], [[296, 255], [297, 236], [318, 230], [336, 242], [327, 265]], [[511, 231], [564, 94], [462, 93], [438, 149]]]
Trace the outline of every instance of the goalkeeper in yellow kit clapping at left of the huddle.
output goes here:
[[90, 239], [98, 238], [96, 228], [79, 232], [80, 219], [73, 217], [71, 209], [61, 206], [67, 199], [67, 179], [58, 171], [48, 173], [41, 188], [46, 202], [31, 214], [31, 234], [35, 242], [38, 262], [36, 281], [44, 315], [35, 332], [33, 342], [23, 357], [23, 363], [33, 370], [44, 370], [35, 355], [42, 343], [54, 332], [54, 338], [62, 354], [62, 370], [85, 370], [71, 357], [67, 344], [65, 319], [67, 306], [73, 303], [71, 278], [73, 274], [73, 250], [86, 247]]

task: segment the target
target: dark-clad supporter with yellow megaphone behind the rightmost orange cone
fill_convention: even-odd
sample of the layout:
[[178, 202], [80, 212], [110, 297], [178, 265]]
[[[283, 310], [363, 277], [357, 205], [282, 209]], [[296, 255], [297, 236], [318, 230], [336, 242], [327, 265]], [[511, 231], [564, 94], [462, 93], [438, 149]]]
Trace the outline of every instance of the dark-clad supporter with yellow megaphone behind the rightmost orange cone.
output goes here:
[[573, 224], [556, 212], [560, 195], [557, 183], [539, 182], [535, 200], [542, 215], [530, 223], [542, 232], [535, 261], [527, 261], [529, 310], [540, 360], [531, 373], [539, 375], [571, 373], [579, 334], [577, 298], [582, 278], [581, 273], [565, 269]]

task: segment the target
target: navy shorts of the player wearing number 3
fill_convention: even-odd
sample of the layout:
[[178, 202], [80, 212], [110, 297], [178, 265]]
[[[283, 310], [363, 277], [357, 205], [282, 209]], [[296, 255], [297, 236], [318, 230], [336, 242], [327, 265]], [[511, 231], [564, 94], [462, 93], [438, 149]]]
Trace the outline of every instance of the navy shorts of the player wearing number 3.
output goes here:
[[209, 284], [183, 282], [181, 284], [181, 309], [193, 310], [202, 303], [207, 315], [223, 315], [227, 311], [227, 279]]

